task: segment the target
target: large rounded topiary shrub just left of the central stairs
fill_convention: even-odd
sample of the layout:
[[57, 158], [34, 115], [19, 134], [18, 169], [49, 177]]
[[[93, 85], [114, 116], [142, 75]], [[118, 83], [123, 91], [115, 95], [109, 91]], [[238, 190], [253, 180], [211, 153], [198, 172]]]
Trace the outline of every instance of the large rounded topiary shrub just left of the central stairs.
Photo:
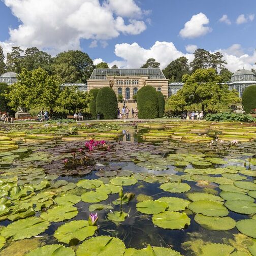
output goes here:
[[96, 111], [101, 119], [117, 118], [117, 99], [114, 90], [110, 87], [103, 87], [99, 90], [96, 99]]

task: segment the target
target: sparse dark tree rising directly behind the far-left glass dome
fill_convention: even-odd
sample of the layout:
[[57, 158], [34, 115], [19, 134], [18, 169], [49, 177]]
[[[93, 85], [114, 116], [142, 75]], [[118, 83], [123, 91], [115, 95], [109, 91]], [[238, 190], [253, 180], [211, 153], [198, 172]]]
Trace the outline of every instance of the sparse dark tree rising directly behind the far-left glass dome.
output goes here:
[[13, 46], [12, 52], [7, 53], [6, 67], [7, 71], [20, 73], [22, 69], [22, 58], [21, 55], [24, 51], [20, 49], [20, 46]]

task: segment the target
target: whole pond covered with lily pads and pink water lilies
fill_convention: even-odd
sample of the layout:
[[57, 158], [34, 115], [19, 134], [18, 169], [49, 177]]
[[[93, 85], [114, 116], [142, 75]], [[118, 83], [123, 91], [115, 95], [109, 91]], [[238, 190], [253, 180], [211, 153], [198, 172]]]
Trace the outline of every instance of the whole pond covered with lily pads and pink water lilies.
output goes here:
[[256, 124], [0, 126], [0, 256], [256, 255]]

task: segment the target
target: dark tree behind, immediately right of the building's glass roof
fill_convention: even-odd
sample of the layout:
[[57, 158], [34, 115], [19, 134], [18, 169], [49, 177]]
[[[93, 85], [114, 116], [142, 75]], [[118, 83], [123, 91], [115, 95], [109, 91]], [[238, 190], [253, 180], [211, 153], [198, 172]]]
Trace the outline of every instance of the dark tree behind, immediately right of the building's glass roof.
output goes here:
[[168, 64], [163, 69], [163, 73], [169, 82], [181, 82], [184, 74], [190, 74], [186, 57], [179, 57]]

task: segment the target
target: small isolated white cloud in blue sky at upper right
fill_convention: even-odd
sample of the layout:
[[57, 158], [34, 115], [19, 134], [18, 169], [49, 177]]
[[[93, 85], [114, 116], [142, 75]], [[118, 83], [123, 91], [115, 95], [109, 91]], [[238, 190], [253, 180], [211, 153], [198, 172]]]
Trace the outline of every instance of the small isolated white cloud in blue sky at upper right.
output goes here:
[[184, 28], [180, 30], [179, 35], [182, 38], [197, 38], [206, 35], [212, 31], [212, 28], [205, 26], [209, 24], [209, 19], [205, 14], [199, 13], [193, 15], [192, 18], [187, 21]]

